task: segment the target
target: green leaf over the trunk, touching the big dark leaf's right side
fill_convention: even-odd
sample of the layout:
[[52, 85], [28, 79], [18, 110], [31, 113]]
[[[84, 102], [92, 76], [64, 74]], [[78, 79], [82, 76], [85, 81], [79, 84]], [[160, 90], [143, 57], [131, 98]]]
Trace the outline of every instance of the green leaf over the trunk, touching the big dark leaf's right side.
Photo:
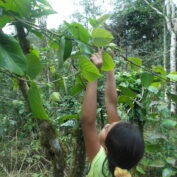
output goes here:
[[31, 79], [34, 79], [41, 71], [42, 65], [40, 59], [34, 54], [28, 54], [27, 56], [27, 75]]

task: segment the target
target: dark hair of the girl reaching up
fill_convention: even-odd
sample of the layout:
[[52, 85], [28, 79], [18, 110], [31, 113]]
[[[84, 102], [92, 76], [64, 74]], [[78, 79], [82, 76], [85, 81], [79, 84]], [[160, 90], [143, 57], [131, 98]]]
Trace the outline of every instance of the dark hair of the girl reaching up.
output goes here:
[[143, 136], [136, 125], [128, 122], [119, 122], [110, 130], [105, 146], [109, 171], [113, 176], [115, 167], [130, 170], [144, 154]]

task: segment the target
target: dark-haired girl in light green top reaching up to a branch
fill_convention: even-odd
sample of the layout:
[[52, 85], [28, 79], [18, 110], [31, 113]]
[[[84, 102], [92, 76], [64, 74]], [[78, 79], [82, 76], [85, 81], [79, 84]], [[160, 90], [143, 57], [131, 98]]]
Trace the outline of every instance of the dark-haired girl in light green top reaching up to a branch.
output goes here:
[[[101, 53], [93, 54], [93, 63], [102, 65]], [[130, 177], [128, 172], [144, 154], [143, 137], [137, 126], [121, 121], [117, 113], [114, 71], [107, 72], [105, 103], [109, 124], [96, 130], [97, 81], [88, 82], [81, 124], [91, 168], [87, 177]]]

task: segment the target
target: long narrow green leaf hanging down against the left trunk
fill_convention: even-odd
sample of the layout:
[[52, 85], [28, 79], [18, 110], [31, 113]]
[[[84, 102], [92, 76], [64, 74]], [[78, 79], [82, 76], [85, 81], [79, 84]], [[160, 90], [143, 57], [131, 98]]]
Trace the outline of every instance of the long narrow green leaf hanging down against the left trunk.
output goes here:
[[42, 105], [40, 91], [34, 82], [28, 91], [28, 100], [33, 116], [42, 120], [49, 120], [49, 117]]

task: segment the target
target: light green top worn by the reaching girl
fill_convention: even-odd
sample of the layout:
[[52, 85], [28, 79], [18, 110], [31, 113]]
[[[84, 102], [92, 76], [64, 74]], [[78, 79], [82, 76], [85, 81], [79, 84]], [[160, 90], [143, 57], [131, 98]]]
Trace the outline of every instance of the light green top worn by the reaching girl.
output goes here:
[[[99, 152], [96, 154], [96, 156], [92, 160], [91, 168], [90, 168], [90, 171], [87, 177], [105, 177], [102, 173], [102, 167], [103, 167], [103, 163], [105, 159], [106, 159], [106, 153], [105, 153], [104, 148], [101, 146]], [[109, 173], [109, 170], [106, 164], [104, 165], [103, 170], [107, 177], [109, 176], [112, 177], [112, 175]]]

